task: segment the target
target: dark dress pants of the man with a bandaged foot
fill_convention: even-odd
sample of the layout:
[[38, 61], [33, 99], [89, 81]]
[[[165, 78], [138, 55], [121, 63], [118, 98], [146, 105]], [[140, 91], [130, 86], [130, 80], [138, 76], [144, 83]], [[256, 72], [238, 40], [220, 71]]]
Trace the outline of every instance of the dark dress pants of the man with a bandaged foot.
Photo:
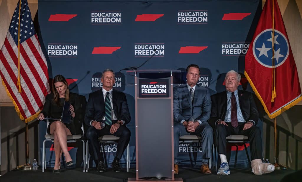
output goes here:
[[231, 122], [226, 123], [228, 126], [218, 124], [215, 127], [215, 142], [218, 154], [226, 154], [226, 137], [230, 135], [246, 135], [249, 137], [249, 146], [251, 149], [251, 159], [262, 159], [262, 139], [260, 129], [253, 125], [249, 129], [243, 130], [245, 123], [239, 123], [234, 128]]

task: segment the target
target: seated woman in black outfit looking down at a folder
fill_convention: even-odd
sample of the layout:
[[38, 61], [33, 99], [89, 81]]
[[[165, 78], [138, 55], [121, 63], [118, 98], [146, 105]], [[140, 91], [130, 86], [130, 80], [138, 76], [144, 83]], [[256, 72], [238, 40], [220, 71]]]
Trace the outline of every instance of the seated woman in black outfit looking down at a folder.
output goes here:
[[82, 108], [78, 95], [69, 92], [68, 83], [62, 75], [56, 75], [53, 78], [52, 93], [46, 96], [43, 110], [39, 114], [39, 119], [44, 120], [48, 118], [60, 118], [62, 115], [64, 101], [70, 103], [69, 111], [71, 115], [70, 122], [68, 124], [63, 123], [59, 120], [52, 121], [49, 123], [47, 128], [47, 134], [54, 135], [54, 151], [55, 151], [55, 166], [53, 172], [60, 172], [61, 155], [64, 152], [67, 166], [73, 164], [73, 161], [69, 155], [67, 149], [67, 135], [82, 134], [80, 126], [76, 126], [77, 118], [82, 115]]

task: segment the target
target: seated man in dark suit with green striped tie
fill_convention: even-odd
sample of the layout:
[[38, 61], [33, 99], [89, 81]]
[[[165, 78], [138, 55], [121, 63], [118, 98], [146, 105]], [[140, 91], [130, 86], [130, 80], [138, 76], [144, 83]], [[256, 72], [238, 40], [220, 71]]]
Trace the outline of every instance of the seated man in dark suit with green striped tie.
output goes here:
[[[103, 155], [98, 137], [103, 135], [114, 135], [120, 137], [117, 144], [116, 156], [112, 162], [114, 172], [121, 172], [120, 158], [130, 140], [130, 130], [126, 124], [130, 122], [130, 113], [123, 92], [113, 89], [115, 75], [113, 70], [104, 70], [101, 78], [103, 87], [89, 94], [86, 106], [85, 123], [90, 126], [86, 136], [89, 143], [89, 153], [97, 161], [97, 172], [105, 171]], [[102, 127], [105, 123], [105, 127]]]

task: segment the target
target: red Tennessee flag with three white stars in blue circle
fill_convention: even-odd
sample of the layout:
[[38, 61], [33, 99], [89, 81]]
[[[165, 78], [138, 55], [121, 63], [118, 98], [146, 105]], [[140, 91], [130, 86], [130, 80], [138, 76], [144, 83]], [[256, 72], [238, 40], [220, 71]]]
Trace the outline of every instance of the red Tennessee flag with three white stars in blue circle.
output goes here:
[[297, 67], [277, 0], [265, 2], [246, 53], [244, 75], [270, 118], [302, 100]]

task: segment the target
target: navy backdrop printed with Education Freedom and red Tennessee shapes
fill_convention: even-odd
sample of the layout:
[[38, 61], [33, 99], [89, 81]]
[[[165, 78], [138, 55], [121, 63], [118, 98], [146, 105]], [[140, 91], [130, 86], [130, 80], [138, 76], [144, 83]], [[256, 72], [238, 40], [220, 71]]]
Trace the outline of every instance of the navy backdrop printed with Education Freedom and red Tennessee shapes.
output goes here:
[[[69, 79], [71, 91], [86, 99], [101, 87], [104, 69], [116, 72], [114, 88], [126, 93], [132, 117], [127, 126], [132, 133], [130, 160], [135, 164], [134, 87], [127, 86], [125, 72], [119, 70], [142, 64], [156, 49], [141, 69], [185, 71], [187, 65], [197, 64], [201, 67], [199, 84], [210, 88], [211, 94], [224, 91], [225, 73], [244, 71], [261, 10], [260, 0], [38, 0], [38, 35], [50, 78], [62, 74]], [[242, 83], [245, 89], [246, 80]], [[42, 143], [46, 124], [40, 123]], [[50, 147], [47, 144], [47, 164], [52, 165]], [[115, 146], [108, 148], [107, 152], [116, 150]], [[183, 146], [180, 150], [180, 164], [189, 164], [188, 152]], [[76, 148], [70, 151], [74, 155]], [[245, 152], [240, 152], [237, 163], [247, 165]], [[107, 157], [111, 163], [113, 156]]]

